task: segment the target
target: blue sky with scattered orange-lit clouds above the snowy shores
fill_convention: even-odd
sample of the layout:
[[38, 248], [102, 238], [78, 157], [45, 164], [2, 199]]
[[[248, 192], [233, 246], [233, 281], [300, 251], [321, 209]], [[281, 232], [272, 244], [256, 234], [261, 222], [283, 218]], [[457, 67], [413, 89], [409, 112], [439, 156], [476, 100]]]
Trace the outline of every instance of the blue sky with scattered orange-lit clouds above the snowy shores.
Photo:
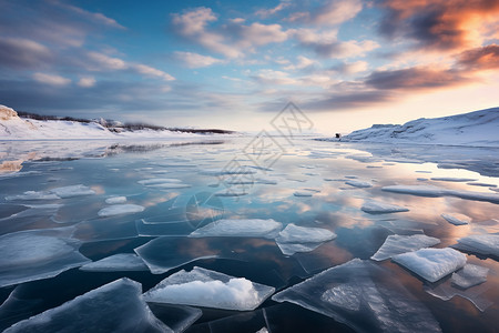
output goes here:
[[499, 107], [499, 0], [0, 0], [0, 104], [348, 133]]

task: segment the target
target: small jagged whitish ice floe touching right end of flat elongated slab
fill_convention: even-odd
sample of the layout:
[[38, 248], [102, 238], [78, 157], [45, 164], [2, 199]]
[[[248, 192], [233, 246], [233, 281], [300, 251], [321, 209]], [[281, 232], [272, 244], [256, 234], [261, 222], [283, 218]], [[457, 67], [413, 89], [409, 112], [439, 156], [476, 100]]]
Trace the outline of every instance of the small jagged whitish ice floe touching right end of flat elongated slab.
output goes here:
[[293, 255], [296, 252], [309, 252], [322, 243], [334, 240], [336, 234], [323, 228], [298, 226], [293, 223], [278, 233], [275, 241], [281, 252]]

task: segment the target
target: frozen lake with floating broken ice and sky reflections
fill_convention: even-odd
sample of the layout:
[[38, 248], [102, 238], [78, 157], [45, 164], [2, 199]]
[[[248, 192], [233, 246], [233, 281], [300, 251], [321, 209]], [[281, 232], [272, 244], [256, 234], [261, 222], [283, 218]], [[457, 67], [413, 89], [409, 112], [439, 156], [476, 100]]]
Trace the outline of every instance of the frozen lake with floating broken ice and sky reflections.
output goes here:
[[0, 142], [0, 329], [497, 330], [499, 149], [274, 139]]

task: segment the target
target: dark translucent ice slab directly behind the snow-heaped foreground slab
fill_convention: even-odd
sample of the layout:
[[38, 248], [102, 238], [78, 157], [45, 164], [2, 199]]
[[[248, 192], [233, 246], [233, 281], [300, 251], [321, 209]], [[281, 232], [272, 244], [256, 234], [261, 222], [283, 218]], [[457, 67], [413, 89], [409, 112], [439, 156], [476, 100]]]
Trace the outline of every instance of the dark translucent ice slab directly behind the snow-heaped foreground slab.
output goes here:
[[221, 250], [205, 246], [201, 239], [174, 236], [154, 239], [133, 251], [153, 274], [162, 274], [196, 260], [217, 258], [221, 253]]

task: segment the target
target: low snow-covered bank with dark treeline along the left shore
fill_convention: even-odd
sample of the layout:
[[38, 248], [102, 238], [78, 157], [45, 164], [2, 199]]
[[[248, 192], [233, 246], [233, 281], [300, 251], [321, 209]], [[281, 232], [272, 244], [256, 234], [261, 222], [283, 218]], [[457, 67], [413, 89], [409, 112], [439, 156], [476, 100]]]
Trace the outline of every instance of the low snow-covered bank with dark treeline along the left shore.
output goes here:
[[202, 135], [169, 130], [110, 130], [98, 121], [23, 119], [13, 109], [0, 105], [0, 140], [169, 139], [198, 137]]

